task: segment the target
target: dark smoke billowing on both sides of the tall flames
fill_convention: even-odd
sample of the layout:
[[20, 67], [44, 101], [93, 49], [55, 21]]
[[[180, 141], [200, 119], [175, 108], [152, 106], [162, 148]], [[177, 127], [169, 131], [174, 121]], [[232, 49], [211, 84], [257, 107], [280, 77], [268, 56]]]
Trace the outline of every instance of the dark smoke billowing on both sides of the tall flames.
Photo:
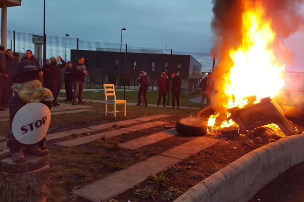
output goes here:
[[242, 40], [242, 13], [245, 3], [254, 4], [261, 2], [265, 8], [265, 16], [272, 19], [272, 29], [276, 33], [274, 47], [278, 56], [287, 56], [283, 60], [292, 58], [293, 54], [281, 46], [283, 39], [289, 37], [304, 25], [304, 15], [301, 13], [301, 5], [304, 0], [213, 0], [213, 19], [211, 22], [214, 33], [211, 54], [218, 59], [213, 76], [216, 79], [216, 89], [219, 90], [215, 100], [217, 104], [224, 102], [224, 93], [221, 92], [225, 85], [224, 75], [229, 72], [233, 63], [229, 57], [229, 51], [236, 49]]

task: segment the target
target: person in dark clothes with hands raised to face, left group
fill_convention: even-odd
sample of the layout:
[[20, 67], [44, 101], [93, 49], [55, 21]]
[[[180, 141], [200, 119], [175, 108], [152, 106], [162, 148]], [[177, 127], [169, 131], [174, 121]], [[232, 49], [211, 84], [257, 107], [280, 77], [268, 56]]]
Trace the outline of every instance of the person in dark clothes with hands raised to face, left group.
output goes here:
[[[61, 64], [57, 65], [57, 62], [59, 60], [61, 61]], [[51, 62], [49, 65], [49, 70], [51, 77], [52, 93], [54, 97], [53, 107], [57, 107], [60, 105], [59, 103], [57, 103], [57, 97], [59, 95], [59, 91], [61, 89], [61, 84], [62, 84], [60, 69], [64, 68], [66, 66], [66, 63], [60, 56], [58, 56], [57, 59], [55, 57], [51, 57], [50, 61]]]

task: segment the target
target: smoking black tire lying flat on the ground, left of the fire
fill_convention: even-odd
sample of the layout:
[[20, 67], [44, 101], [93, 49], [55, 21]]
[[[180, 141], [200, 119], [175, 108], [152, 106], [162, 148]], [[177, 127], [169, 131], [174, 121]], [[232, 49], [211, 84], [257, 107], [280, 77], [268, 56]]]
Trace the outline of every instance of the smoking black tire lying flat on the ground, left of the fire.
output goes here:
[[176, 123], [176, 131], [185, 136], [205, 135], [207, 128], [207, 122], [198, 118], [184, 118]]

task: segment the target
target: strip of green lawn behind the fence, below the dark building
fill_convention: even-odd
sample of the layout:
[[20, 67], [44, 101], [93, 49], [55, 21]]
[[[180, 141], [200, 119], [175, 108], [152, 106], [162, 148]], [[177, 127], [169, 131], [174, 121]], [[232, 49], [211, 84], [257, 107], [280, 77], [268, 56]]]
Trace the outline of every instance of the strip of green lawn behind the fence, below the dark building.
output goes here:
[[[182, 107], [200, 107], [200, 103], [192, 103], [188, 101], [189, 99], [194, 98], [197, 96], [201, 91], [197, 90], [191, 94], [186, 93], [180, 93], [180, 106]], [[138, 90], [126, 90], [125, 92], [125, 99], [129, 103], [137, 103], [137, 93]], [[60, 92], [59, 96], [65, 97], [65, 92]], [[158, 91], [157, 90], [148, 90], [147, 91], [147, 100], [148, 104], [157, 104], [158, 101]], [[124, 98], [124, 91], [123, 90], [116, 90], [116, 97], [117, 99], [123, 99]], [[99, 100], [105, 100], [104, 97], [104, 91], [102, 89], [96, 90], [96, 91], [85, 91], [83, 94], [84, 99], [99, 99]], [[168, 99], [168, 94], [166, 99]], [[199, 98], [200, 99], [200, 98]], [[163, 103], [163, 100], [161, 100], [161, 105]], [[166, 101], [167, 104], [167, 101]], [[171, 93], [169, 93], [169, 105], [172, 105], [171, 102]]]

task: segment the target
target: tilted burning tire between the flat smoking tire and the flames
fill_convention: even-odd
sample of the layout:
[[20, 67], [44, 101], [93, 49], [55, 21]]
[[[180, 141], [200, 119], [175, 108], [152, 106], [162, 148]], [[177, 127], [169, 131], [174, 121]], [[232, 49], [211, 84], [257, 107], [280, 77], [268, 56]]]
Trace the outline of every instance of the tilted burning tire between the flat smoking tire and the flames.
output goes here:
[[226, 109], [222, 106], [208, 106], [199, 111], [197, 114], [197, 118], [203, 119], [204, 121], [208, 121], [209, 117], [214, 114], [218, 114], [218, 117], [215, 119], [215, 125], [220, 125], [226, 118], [227, 113]]

